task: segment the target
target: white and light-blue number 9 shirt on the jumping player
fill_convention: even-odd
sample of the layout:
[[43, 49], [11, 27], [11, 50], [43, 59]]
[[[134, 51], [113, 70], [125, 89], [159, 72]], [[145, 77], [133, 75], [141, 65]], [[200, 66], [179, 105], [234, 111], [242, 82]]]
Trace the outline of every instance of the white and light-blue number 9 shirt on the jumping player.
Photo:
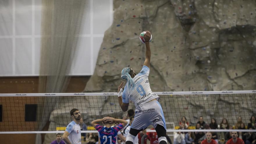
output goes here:
[[158, 99], [157, 94], [152, 93], [150, 84], [148, 81], [149, 68], [143, 66], [139, 74], [137, 74], [133, 79], [135, 83], [135, 88], [129, 93], [127, 91], [128, 84], [126, 83], [124, 91], [122, 93], [122, 102], [129, 103], [131, 100], [134, 105], [137, 107], [141, 104], [149, 102], [152, 99]]

